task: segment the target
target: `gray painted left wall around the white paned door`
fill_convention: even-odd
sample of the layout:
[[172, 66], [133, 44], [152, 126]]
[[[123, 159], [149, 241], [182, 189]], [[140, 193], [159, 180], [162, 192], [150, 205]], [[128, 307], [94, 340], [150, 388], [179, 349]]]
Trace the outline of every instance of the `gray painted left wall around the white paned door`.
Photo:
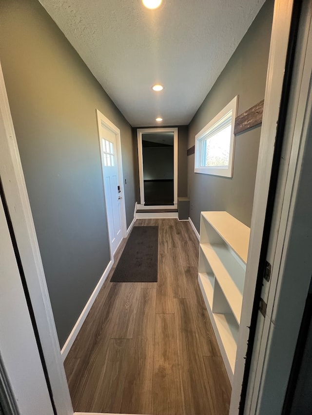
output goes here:
[[37, 0], [1, 0], [0, 61], [62, 346], [109, 262], [96, 108], [120, 129], [128, 226], [131, 126]]

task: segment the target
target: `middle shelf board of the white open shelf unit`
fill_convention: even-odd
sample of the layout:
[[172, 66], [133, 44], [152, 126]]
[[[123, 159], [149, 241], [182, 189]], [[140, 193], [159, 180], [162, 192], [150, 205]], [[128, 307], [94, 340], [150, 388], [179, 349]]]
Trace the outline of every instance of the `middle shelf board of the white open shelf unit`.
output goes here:
[[200, 247], [239, 324], [245, 280], [244, 268], [224, 245], [200, 244]]

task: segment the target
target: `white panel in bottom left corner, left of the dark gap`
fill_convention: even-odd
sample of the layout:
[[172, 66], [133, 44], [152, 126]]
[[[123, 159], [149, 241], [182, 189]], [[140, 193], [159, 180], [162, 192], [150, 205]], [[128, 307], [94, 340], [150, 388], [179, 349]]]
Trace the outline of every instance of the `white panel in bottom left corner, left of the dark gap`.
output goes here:
[[0, 235], [0, 361], [5, 380], [20, 414], [53, 415], [1, 198]]

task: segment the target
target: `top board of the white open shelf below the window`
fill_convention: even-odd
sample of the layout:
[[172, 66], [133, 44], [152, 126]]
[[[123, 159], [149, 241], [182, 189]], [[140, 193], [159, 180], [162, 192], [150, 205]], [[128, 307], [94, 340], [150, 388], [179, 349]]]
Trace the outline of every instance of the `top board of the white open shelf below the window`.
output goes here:
[[246, 264], [250, 237], [250, 228], [227, 212], [201, 212], [215, 232], [234, 250]]

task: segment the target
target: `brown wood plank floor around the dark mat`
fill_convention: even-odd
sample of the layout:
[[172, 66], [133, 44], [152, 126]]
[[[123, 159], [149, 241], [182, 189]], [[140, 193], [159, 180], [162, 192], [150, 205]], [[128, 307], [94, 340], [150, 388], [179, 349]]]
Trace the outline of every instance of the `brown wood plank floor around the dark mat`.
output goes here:
[[[158, 282], [103, 284], [66, 360], [78, 412], [226, 415], [231, 386], [197, 283], [189, 222], [158, 225]], [[126, 241], [115, 255], [115, 264]]]

